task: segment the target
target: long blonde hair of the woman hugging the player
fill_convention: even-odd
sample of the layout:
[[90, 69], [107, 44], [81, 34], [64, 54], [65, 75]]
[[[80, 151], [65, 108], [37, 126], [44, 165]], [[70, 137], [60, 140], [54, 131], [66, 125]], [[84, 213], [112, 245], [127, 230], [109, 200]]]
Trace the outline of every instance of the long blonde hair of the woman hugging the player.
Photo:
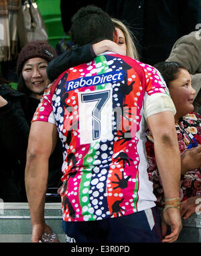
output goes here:
[[125, 35], [125, 43], [127, 46], [127, 56], [131, 58], [135, 58], [135, 60], [139, 60], [137, 49], [134, 44], [134, 40], [136, 40], [136, 38], [131, 32], [131, 30], [129, 30], [129, 28], [125, 26], [123, 22], [120, 22], [119, 19], [112, 18], [112, 20], [113, 20], [113, 23], [115, 24], [115, 27], [122, 30], [123, 34]]

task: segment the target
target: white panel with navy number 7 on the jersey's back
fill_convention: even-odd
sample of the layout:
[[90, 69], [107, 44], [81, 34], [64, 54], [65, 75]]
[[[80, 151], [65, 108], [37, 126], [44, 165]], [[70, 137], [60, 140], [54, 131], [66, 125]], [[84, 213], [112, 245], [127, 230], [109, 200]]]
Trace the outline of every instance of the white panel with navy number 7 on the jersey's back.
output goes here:
[[107, 139], [112, 130], [112, 90], [78, 93], [80, 144]]

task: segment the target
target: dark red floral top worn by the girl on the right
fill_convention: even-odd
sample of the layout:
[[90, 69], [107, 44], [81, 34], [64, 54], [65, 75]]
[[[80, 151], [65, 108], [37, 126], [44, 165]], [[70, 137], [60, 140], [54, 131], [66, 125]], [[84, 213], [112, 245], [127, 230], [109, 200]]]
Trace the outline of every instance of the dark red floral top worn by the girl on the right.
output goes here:
[[[197, 113], [190, 113], [180, 119], [176, 124], [178, 134], [178, 144], [181, 155], [188, 150], [188, 146], [193, 143], [190, 134], [198, 144], [201, 144], [201, 116]], [[157, 198], [157, 206], [164, 206], [163, 187], [155, 162], [155, 153], [153, 148], [153, 137], [151, 132], [146, 132], [147, 142], [145, 144], [147, 151], [147, 161], [149, 163], [149, 180], [153, 182], [153, 192]], [[180, 200], [184, 201], [193, 196], [201, 196], [201, 167], [188, 171], [181, 177]]]

